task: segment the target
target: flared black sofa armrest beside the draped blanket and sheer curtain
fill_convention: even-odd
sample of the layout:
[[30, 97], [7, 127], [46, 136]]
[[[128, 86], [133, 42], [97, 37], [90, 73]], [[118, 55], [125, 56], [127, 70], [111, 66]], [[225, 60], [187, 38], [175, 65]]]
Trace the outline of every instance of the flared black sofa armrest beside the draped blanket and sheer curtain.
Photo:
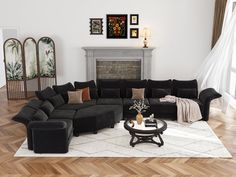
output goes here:
[[210, 103], [213, 99], [220, 98], [221, 94], [215, 91], [214, 88], [202, 90], [199, 94], [199, 100], [203, 105], [203, 120], [208, 121]]

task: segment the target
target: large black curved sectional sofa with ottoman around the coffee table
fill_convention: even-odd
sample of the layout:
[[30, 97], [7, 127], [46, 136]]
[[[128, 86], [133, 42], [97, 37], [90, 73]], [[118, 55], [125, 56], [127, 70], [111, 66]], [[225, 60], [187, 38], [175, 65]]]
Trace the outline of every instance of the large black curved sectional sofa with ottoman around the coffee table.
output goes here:
[[[68, 91], [90, 88], [90, 101], [68, 104]], [[81, 132], [97, 133], [114, 127], [121, 119], [135, 117], [132, 88], [145, 88], [145, 104], [150, 108], [144, 116], [176, 119], [175, 103], [160, 102], [165, 95], [193, 99], [199, 104], [202, 119], [207, 121], [211, 100], [221, 97], [213, 88], [198, 94], [196, 80], [98, 80], [67, 83], [36, 91], [33, 99], [13, 117], [27, 127], [28, 148], [36, 153], [65, 153], [72, 136]]]

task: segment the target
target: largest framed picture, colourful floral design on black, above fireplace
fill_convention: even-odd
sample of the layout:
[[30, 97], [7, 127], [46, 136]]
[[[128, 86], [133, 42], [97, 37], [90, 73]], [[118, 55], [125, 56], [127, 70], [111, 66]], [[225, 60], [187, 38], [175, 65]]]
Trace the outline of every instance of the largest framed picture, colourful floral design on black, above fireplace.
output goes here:
[[108, 14], [107, 15], [107, 38], [127, 39], [127, 15]]

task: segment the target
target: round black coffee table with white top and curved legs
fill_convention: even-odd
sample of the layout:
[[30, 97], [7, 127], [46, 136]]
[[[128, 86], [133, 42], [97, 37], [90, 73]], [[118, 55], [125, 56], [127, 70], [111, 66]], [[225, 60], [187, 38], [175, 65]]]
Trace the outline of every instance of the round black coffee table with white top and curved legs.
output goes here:
[[[164, 120], [156, 119], [156, 121], [157, 127], [145, 127], [144, 121], [141, 125], [138, 125], [137, 121], [133, 120], [134, 126], [132, 127], [130, 120], [126, 120], [124, 127], [131, 135], [130, 146], [134, 147], [139, 143], [154, 143], [159, 147], [164, 145], [161, 134], [167, 129], [167, 124]], [[158, 137], [160, 142], [155, 141], [154, 137]]]

